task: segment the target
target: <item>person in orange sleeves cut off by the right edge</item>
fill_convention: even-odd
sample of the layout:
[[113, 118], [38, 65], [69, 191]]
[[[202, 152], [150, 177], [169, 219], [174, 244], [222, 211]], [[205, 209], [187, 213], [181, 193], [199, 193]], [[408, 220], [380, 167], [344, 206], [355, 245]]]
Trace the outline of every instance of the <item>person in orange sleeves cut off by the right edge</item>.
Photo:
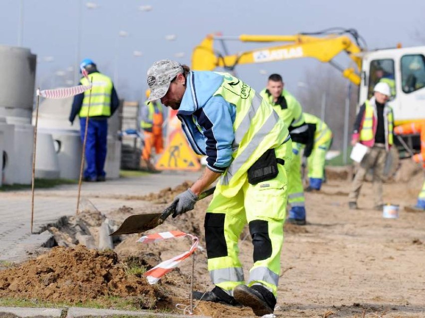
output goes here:
[[[421, 134], [421, 153], [413, 155], [412, 159], [417, 163], [422, 163], [422, 166], [425, 167], [425, 121], [397, 126], [394, 128], [394, 134]], [[407, 206], [405, 209], [412, 211], [425, 211], [425, 182], [422, 185], [421, 192], [419, 192], [416, 205]]]

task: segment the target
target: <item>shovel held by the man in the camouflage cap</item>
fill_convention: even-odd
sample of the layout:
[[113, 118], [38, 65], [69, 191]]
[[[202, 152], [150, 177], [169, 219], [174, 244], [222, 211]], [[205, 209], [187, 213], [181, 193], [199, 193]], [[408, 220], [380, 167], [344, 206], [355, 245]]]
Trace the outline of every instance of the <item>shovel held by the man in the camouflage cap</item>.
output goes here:
[[[198, 200], [213, 194], [215, 186], [202, 192]], [[161, 213], [135, 214], [126, 218], [121, 226], [110, 235], [143, 233], [164, 223], [165, 219], [174, 213], [177, 202], [173, 202]]]

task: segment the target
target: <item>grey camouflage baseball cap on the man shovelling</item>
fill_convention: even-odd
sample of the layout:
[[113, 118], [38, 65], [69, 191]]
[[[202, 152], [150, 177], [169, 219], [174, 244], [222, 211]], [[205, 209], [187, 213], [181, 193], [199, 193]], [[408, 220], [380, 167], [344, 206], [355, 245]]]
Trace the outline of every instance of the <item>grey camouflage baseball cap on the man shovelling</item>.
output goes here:
[[171, 81], [179, 73], [184, 73], [184, 71], [182, 65], [176, 61], [160, 60], [155, 62], [147, 73], [148, 85], [151, 90], [148, 102], [164, 97]]

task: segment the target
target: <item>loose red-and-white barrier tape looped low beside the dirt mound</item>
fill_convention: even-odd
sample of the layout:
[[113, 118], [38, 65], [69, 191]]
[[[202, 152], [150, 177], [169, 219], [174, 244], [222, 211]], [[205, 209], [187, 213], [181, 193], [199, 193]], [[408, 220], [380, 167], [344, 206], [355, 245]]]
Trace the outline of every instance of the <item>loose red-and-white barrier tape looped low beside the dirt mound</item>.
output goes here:
[[192, 239], [192, 246], [191, 249], [183, 254], [180, 254], [178, 256], [173, 257], [172, 259], [169, 259], [167, 261], [164, 261], [154, 268], [147, 271], [144, 275], [147, 277], [149, 284], [156, 284], [161, 277], [163, 277], [168, 272], [171, 272], [173, 268], [176, 268], [181, 261], [191, 256], [197, 249], [199, 239], [198, 237], [187, 234], [182, 231], [170, 231], [170, 232], [162, 232], [162, 233], [156, 233], [156, 234], [150, 234], [142, 236], [140, 239], [137, 240], [137, 242], [141, 243], [154, 243], [162, 240], [167, 240], [169, 238], [176, 238], [176, 237], [185, 237], [189, 236]]

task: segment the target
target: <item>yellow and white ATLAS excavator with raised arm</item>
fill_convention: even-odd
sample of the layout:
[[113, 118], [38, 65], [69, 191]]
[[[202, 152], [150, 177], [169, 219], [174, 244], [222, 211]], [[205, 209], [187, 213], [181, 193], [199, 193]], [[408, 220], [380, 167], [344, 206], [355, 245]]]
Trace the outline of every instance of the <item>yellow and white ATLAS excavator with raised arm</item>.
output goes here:
[[[284, 42], [281, 45], [222, 54], [215, 42]], [[224, 52], [227, 50], [224, 46]], [[334, 58], [346, 53], [351, 67], [338, 65]], [[359, 86], [359, 104], [370, 98], [373, 87], [381, 78], [394, 83], [391, 105], [395, 124], [425, 120], [425, 46], [368, 50], [366, 41], [355, 29], [331, 28], [314, 33], [295, 35], [210, 34], [197, 45], [192, 54], [193, 70], [213, 70], [223, 67], [233, 70], [239, 64], [265, 63], [311, 57], [330, 63], [342, 75]]]

